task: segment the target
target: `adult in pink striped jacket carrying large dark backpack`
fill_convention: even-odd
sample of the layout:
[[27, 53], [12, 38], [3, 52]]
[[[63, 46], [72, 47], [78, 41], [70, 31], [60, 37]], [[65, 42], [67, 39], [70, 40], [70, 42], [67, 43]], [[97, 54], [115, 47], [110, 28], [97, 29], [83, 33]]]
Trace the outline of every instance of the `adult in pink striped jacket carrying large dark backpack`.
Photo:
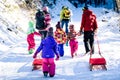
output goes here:
[[41, 34], [41, 40], [43, 40], [47, 35], [47, 29], [50, 27], [51, 16], [48, 12], [48, 7], [45, 6], [42, 8], [42, 11], [38, 9], [38, 12], [35, 16], [36, 19], [36, 28]]

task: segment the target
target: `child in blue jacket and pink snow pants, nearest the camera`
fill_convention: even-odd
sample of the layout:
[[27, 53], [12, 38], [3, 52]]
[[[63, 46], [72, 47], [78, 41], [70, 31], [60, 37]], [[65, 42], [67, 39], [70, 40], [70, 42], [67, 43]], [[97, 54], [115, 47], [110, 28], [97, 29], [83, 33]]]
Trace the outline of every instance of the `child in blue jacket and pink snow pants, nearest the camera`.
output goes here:
[[59, 59], [59, 53], [57, 51], [57, 43], [53, 37], [53, 28], [50, 27], [47, 32], [47, 37], [42, 40], [40, 46], [33, 55], [33, 58], [36, 58], [37, 54], [42, 50], [42, 70], [45, 77], [49, 76], [54, 77], [55, 75], [55, 54], [57, 56], [56, 60]]

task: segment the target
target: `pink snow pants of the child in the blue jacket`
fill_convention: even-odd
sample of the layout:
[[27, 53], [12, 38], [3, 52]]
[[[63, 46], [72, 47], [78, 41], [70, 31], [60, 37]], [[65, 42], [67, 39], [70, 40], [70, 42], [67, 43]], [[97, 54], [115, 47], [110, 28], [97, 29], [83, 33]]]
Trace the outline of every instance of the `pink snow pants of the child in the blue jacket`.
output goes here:
[[48, 72], [49, 75], [54, 76], [56, 68], [54, 58], [43, 58], [42, 61], [43, 72]]

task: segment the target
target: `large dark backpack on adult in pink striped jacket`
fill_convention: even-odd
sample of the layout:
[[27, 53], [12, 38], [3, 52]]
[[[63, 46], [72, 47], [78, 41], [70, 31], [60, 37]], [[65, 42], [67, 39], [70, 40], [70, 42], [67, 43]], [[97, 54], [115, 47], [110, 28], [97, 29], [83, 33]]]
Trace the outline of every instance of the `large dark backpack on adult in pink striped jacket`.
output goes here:
[[42, 11], [38, 11], [36, 13], [36, 29], [43, 30], [46, 28], [44, 20], [44, 13]]

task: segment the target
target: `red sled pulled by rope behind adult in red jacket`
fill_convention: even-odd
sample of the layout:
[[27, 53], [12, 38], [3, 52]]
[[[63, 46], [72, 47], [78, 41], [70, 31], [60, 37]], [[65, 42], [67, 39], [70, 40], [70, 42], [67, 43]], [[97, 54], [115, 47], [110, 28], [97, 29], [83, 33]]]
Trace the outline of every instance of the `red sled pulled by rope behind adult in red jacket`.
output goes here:
[[106, 60], [102, 56], [99, 57], [99, 58], [90, 57], [89, 64], [90, 64], [90, 71], [95, 70], [95, 69], [107, 70], [107, 68], [106, 68]]

